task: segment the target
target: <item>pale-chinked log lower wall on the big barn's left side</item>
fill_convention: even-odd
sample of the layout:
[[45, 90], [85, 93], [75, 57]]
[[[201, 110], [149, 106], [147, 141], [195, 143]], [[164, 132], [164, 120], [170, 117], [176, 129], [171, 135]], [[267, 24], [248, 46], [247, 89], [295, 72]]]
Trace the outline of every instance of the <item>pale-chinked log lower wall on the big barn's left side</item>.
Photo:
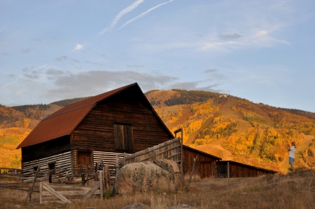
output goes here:
[[49, 156], [43, 159], [38, 159], [35, 161], [23, 162], [22, 166], [23, 169], [27, 170], [34, 170], [34, 167], [41, 166], [41, 171], [47, 172], [48, 174], [48, 163], [53, 162], [55, 162], [55, 169], [58, 169], [59, 167], [61, 168], [60, 176], [65, 176], [66, 171], [71, 174], [71, 151]]

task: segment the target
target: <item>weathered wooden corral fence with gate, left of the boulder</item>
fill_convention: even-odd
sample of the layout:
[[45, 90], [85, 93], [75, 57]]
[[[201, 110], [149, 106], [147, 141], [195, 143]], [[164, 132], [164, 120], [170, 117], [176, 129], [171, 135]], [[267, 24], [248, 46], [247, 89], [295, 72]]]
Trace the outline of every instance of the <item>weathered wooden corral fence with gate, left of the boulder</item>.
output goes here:
[[[18, 189], [27, 191], [27, 201], [31, 195], [39, 193], [39, 203], [46, 201], [62, 201], [71, 203], [75, 200], [87, 200], [92, 196], [103, 198], [104, 189], [111, 185], [111, 176], [107, 164], [97, 163], [95, 167], [80, 170], [77, 175], [60, 176], [61, 169], [56, 168], [41, 172], [37, 170], [25, 170], [0, 167], [0, 187], [6, 189]], [[80, 184], [80, 185], [75, 185]]]

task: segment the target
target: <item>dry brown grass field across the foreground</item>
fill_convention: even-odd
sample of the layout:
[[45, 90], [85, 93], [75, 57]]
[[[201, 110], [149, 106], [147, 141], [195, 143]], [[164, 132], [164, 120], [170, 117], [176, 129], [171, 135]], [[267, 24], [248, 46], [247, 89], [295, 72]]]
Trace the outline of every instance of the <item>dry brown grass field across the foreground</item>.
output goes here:
[[189, 189], [171, 194], [142, 193], [76, 201], [71, 204], [40, 205], [33, 195], [27, 203], [26, 191], [0, 189], [0, 208], [109, 208], [121, 209], [132, 203], [153, 209], [170, 208], [185, 203], [195, 208], [315, 208], [315, 170], [251, 178], [193, 180]]

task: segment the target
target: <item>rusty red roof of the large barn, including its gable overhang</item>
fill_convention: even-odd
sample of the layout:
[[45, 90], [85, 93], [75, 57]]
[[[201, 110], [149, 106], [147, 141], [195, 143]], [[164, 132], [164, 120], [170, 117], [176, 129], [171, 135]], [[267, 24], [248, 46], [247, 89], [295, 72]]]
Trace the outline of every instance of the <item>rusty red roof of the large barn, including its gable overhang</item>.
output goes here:
[[[29, 135], [21, 142], [21, 144], [17, 147], [17, 149], [22, 147], [29, 147], [34, 144], [39, 144], [42, 142], [47, 142], [49, 140], [54, 140], [58, 137], [62, 137], [64, 135], [70, 135], [72, 131], [78, 126], [80, 121], [82, 121], [85, 116], [92, 110], [92, 108], [98, 102], [102, 102], [103, 100], [108, 99], [109, 97], [116, 95], [123, 90], [127, 90], [132, 86], [136, 86], [137, 89], [142, 93], [141, 88], [137, 83], [132, 83], [128, 86], [123, 86], [121, 88], [117, 88], [115, 90], [111, 90], [106, 93], [102, 93], [100, 95], [96, 95], [94, 97], [89, 97], [85, 100], [81, 100], [78, 102], [73, 102], [72, 104], [67, 105], [66, 107], [59, 109], [57, 112], [50, 114], [45, 119], [43, 119], [38, 125], [34, 128], [34, 130], [29, 133]], [[144, 93], [142, 93], [144, 95]], [[149, 107], [153, 110], [155, 115], [161, 121], [162, 125], [165, 124], [162, 122], [158, 114], [155, 112], [150, 102], [144, 98]], [[172, 133], [165, 126], [170, 135]], [[172, 135], [173, 136], [173, 135]]]

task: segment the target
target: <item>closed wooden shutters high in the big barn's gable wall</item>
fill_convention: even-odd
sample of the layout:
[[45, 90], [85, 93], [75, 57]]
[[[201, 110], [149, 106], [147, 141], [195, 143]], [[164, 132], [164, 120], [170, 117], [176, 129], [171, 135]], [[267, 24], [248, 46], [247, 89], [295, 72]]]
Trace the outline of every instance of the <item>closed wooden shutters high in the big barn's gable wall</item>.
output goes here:
[[116, 123], [114, 124], [115, 149], [132, 151], [133, 129], [131, 124]]

